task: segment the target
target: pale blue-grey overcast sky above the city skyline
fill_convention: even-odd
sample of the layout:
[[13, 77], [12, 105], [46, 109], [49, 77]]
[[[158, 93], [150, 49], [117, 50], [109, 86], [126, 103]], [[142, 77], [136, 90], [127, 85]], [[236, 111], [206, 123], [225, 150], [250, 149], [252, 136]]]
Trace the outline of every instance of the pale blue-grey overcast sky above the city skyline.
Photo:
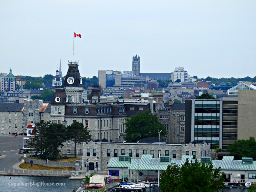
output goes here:
[[[79, 60], [98, 70], [190, 76], [256, 76], [256, 1], [0, 0], [0, 72], [55, 75]], [[73, 38], [73, 31], [81, 38]]]

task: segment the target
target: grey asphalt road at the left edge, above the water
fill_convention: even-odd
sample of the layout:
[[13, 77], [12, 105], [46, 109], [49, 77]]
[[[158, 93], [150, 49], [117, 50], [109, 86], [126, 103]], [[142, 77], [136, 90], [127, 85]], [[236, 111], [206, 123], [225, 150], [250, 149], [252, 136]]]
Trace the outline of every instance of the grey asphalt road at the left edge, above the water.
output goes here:
[[23, 137], [22, 136], [6, 136], [0, 135], [0, 155], [6, 155], [0, 158], [0, 171], [13, 170], [12, 166], [20, 162], [19, 146], [23, 148]]

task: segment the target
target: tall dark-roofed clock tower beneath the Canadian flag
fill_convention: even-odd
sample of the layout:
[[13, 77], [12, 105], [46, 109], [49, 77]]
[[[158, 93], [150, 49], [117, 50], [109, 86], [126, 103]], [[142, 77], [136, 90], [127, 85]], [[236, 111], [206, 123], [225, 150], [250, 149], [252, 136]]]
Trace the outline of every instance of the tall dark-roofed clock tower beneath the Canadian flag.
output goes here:
[[83, 102], [83, 80], [78, 70], [78, 60], [68, 60], [68, 73], [65, 77], [63, 86], [66, 88], [68, 102], [82, 103]]

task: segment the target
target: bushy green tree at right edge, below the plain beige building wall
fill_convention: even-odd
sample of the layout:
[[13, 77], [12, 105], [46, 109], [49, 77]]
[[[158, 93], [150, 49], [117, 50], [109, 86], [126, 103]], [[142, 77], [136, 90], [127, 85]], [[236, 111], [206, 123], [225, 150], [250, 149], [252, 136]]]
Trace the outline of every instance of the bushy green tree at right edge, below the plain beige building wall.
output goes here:
[[248, 140], [237, 140], [233, 145], [229, 145], [227, 148], [229, 155], [234, 156], [236, 160], [241, 160], [242, 157], [252, 157], [256, 160], [256, 141], [254, 137], [250, 137]]

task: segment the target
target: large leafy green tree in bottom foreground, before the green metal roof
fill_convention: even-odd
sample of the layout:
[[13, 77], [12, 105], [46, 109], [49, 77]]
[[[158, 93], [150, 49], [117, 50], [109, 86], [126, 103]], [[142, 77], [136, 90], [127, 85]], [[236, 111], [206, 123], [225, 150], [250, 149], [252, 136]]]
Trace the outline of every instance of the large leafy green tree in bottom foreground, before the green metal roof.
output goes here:
[[162, 171], [160, 185], [162, 192], [218, 192], [225, 188], [224, 173], [211, 162], [195, 163], [186, 160], [181, 165], [172, 163]]

